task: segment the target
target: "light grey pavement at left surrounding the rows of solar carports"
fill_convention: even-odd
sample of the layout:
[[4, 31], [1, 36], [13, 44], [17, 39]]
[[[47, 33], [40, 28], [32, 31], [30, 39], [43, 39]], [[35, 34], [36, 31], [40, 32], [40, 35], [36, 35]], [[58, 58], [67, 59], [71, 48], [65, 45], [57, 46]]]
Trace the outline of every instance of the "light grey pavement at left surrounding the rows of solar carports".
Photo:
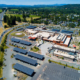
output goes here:
[[[4, 58], [6, 59], [4, 61], [4, 63], [5, 63], [6, 66], [3, 68], [3, 78], [6, 78], [6, 80], [18, 80], [18, 77], [14, 77], [14, 69], [12, 69], [12, 65], [16, 64], [16, 63], [19, 63], [23, 66], [29, 67], [29, 68], [33, 69], [34, 72], [36, 73], [39, 70], [39, 67], [43, 64], [43, 61], [39, 60], [37, 58], [34, 58], [34, 57], [29, 57], [28, 55], [24, 55], [24, 54], [14, 52], [13, 51], [14, 47], [9, 45], [9, 43], [11, 43], [11, 44], [13, 43], [13, 44], [16, 44], [17, 46], [20, 46], [20, 47], [25, 46], [26, 50], [29, 51], [30, 48], [36, 44], [36, 42], [32, 41], [31, 46], [26, 46], [26, 45], [22, 45], [22, 44], [19, 44], [19, 43], [11, 42], [10, 39], [11, 39], [11, 37], [10, 37], [10, 34], [9, 34], [8, 37], [7, 37], [7, 43], [6, 43], [9, 46], [9, 48], [5, 52], [6, 55], [4, 56]], [[22, 56], [37, 60], [37, 63], [39, 63], [40, 65], [33, 66], [33, 65], [28, 64], [28, 63], [16, 60], [14, 57], [11, 58], [12, 54], [14, 54], [14, 55], [19, 54], [19, 55], [22, 55]], [[29, 80], [29, 79], [31, 79], [31, 77], [29, 76], [27, 79]]]

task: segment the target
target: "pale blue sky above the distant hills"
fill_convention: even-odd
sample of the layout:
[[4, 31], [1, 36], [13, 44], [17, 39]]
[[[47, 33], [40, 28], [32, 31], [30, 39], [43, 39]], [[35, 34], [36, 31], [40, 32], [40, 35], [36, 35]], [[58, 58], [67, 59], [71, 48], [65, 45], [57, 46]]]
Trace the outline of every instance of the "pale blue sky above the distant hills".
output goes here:
[[80, 0], [0, 0], [0, 4], [8, 5], [80, 4]]

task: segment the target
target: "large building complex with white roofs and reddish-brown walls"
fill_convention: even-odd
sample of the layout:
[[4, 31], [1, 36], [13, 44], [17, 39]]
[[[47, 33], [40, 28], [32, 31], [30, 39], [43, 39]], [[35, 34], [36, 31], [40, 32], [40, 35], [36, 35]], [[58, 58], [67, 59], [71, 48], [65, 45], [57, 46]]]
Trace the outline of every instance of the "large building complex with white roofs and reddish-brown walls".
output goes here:
[[68, 31], [64, 31], [65, 33], [60, 33], [59, 31], [60, 30], [53, 30], [53, 31], [47, 31], [47, 30], [31, 30], [31, 29], [28, 29], [28, 30], [25, 30], [28, 35], [29, 35], [29, 39], [37, 39], [37, 38], [41, 38], [42, 40], [44, 41], [50, 41], [50, 42], [53, 42], [57, 45], [60, 45], [60, 46], [66, 46], [68, 47], [69, 46], [69, 43], [72, 39], [72, 34], [70, 32], [70, 34], [68, 33]]

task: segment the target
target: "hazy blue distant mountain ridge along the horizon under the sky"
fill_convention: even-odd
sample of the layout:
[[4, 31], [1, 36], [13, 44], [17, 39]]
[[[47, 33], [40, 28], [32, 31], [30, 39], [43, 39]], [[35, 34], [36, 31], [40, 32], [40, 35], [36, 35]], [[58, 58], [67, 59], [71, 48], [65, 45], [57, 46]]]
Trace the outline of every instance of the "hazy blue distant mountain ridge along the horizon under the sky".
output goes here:
[[63, 6], [67, 4], [53, 4], [53, 5], [6, 5], [0, 4], [0, 7], [52, 7], [52, 6]]

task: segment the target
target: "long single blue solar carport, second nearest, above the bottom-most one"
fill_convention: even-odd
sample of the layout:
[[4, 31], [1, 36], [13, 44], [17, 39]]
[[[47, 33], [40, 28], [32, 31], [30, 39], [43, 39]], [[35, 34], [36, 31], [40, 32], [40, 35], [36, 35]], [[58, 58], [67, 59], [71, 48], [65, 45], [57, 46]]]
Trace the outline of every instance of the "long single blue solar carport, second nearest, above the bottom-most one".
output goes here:
[[26, 63], [29, 63], [29, 64], [34, 65], [34, 66], [37, 65], [36, 60], [28, 58], [28, 57], [24, 57], [24, 56], [19, 55], [19, 54], [15, 55], [15, 59], [26, 62]]

